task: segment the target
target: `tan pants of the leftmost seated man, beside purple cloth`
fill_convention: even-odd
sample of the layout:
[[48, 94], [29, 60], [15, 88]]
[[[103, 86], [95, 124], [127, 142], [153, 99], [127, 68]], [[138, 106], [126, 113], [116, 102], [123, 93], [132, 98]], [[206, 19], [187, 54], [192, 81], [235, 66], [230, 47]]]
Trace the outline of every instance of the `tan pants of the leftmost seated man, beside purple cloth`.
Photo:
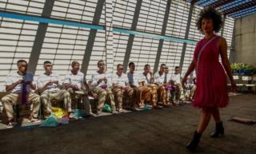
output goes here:
[[[2, 97], [2, 104], [6, 109], [6, 115], [8, 116], [8, 120], [14, 119], [14, 109], [13, 105], [17, 105], [21, 102], [21, 94], [10, 93], [5, 97]], [[40, 108], [40, 97], [36, 93], [29, 93], [27, 96], [27, 101], [33, 104], [33, 109], [31, 115], [35, 118], [38, 117], [38, 110]]]

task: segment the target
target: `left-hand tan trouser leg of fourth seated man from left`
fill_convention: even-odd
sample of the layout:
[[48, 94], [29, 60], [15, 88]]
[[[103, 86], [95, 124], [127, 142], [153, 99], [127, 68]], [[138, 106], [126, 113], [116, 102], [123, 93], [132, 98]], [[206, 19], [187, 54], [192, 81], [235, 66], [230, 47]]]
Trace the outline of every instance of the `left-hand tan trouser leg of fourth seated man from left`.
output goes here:
[[93, 91], [93, 93], [95, 93], [97, 95], [97, 99], [98, 99], [97, 109], [99, 111], [102, 111], [104, 103], [106, 101], [106, 94], [107, 94], [106, 90], [97, 87], [97, 88], [94, 88], [92, 91]]

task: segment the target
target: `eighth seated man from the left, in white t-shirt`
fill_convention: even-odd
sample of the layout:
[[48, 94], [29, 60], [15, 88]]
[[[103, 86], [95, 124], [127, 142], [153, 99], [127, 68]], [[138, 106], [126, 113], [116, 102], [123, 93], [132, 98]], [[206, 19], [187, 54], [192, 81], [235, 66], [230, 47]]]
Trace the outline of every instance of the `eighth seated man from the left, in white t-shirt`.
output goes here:
[[158, 86], [157, 90], [159, 100], [162, 101], [162, 105], [167, 108], [169, 105], [166, 104], [166, 84], [164, 83], [166, 77], [165, 70], [166, 65], [161, 64], [160, 70], [154, 73], [154, 84]]

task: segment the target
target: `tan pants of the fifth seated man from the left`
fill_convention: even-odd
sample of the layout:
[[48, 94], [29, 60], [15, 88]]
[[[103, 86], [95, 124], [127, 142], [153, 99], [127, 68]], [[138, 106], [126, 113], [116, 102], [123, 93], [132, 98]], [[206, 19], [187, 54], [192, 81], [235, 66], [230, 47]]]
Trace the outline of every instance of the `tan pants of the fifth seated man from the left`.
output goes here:
[[[118, 102], [118, 110], [122, 109], [122, 105], [126, 103], [125, 107], [133, 107], [134, 102], [132, 102], [132, 95], [134, 93], [134, 89], [128, 87], [127, 89], [121, 89], [121, 88], [114, 88], [113, 89], [114, 98]], [[123, 98], [126, 102], [123, 102]]]

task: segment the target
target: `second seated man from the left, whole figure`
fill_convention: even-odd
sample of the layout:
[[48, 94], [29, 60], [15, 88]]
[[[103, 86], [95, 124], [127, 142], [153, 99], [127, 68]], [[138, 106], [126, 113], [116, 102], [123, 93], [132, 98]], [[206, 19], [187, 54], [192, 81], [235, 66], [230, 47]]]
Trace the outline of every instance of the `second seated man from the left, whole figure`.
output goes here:
[[65, 109], [70, 116], [72, 111], [70, 93], [65, 89], [60, 89], [62, 81], [57, 73], [52, 72], [53, 65], [50, 61], [44, 61], [43, 67], [46, 72], [38, 77], [38, 91], [41, 93], [41, 101], [46, 107], [46, 113], [52, 113], [51, 101], [56, 100], [64, 101]]

